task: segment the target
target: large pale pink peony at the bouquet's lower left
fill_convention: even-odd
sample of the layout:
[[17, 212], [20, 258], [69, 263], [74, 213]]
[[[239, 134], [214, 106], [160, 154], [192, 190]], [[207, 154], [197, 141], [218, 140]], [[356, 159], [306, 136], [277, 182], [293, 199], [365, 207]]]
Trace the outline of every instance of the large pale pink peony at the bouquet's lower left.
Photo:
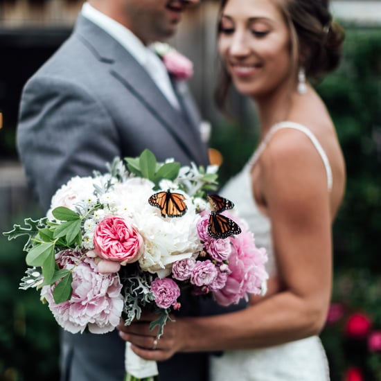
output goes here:
[[[82, 333], [107, 333], [118, 325], [123, 310], [122, 285], [118, 274], [100, 274], [93, 258], [66, 250], [56, 255], [60, 268], [73, 269], [71, 299], [57, 304], [54, 286], [42, 287], [41, 296], [48, 301], [53, 316], [64, 330]], [[78, 263], [80, 260], [80, 263]], [[78, 263], [78, 265], [76, 265]]]

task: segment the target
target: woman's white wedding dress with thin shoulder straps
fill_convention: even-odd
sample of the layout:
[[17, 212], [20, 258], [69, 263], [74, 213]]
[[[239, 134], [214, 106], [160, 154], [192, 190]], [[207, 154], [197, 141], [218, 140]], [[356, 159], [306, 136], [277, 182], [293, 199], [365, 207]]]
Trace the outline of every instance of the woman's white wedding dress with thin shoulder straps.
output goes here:
[[[276, 275], [269, 219], [260, 213], [251, 193], [250, 170], [265, 149], [272, 135], [282, 128], [294, 128], [306, 134], [319, 152], [327, 172], [328, 191], [332, 174], [326, 153], [316, 137], [303, 125], [282, 122], [274, 125], [246, 166], [224, 186], [221, 195], [233, 200], [242, 218], [254, 232], [257, 247], [265, 247], [269, 256], [267, 271]], [[253, 317], [255, 319], [255, 317]], [[225, 351], [211, 356], [210, 381], [328, 381], [326, 353], [317, 336], [287, 344], [249, 351]]]

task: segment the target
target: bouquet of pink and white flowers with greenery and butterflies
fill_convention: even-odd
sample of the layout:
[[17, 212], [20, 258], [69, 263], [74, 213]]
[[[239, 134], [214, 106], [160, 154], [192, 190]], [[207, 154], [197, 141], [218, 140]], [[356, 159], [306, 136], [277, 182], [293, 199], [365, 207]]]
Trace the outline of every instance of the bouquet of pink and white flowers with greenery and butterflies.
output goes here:
[[[107, 333], [121, 317], [131, 324], [151, 309], [159, 338], [186, 289], [222, 305], [263, 292], [265, 249], [256, 247], [233, 202], [209, 194], [216, 167], [158, 163], [145, 150], [108, 169], [73, 177], [57, 190], [46, 217], [26, 218], [5, 233], [28, 237], [20, 287], [39, 290], [64, 330]], [[155, 362], [129, 348], [125, 380], [157, 375]]]

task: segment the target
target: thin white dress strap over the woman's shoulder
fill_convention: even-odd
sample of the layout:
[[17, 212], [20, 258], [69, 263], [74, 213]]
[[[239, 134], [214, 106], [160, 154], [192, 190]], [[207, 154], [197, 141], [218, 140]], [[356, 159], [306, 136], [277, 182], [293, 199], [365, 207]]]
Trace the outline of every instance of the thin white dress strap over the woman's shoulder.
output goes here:
[[254, 154], [251, 157], [251, 159], [249, 159], [247, 165], [250, 166], [250, 168], [252, 166], [254, 166], [256, 161], [259, 159], [260, 155], [265, 150], [270, 139], [272, 139], [272, 136], [275, 134], [275, 132], [277, 132], [278, 130], [281, 130], [283, 128], [292, 128], [294, 130], [299, 130], [299, 131], [303, 132], [305, 135], [307, 135], [308, 138], [310, 138], [310, 141], [312, 141], [312, 144], [317, 149], [317, 152], [319, 152], [321, 160], [324, 163], [324, 167], [326, 168], [327, 185], [328, 185], [328, 190], [330, 191], [332, 189], [332, 185], [333, 185], [333, 175], [332, 175], [332, 169], [330, 168], [330, 162], [328, 160], [327, 154], [324, 151], [323, 147], [321, 147], [321, 144], [317, 140], [317, 137], [314, 136], [314, 134], [312, 134], [312, 132], [307, 127], [305, 127], [304, 125], [301, 125], [299, 123], [295, 123], [295, 122], [291, 122], [291, 121], [283, 121], [283, 122], [276, 123], [275, 125], [273, 125], [269, 129], [269, 132], [267, 132], [263, 141], [260, 143], [260, 145], [258, 145], [258, 148], [254, 151]]

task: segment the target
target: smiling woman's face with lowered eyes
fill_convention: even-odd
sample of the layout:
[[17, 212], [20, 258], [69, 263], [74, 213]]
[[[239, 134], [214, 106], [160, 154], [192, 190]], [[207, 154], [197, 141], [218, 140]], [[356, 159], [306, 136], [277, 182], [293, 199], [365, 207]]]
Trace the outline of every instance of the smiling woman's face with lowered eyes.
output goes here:
[[290, 33], [274, 0], [228, 0], [218, 49], [241, 94], [269, 94], [293, 76]]

